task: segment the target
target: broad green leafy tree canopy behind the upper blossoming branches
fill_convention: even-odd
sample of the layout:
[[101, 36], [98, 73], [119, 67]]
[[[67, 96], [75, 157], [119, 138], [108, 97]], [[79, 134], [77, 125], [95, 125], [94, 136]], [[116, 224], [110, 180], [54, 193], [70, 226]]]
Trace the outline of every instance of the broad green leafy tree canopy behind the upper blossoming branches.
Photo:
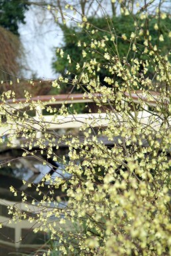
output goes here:
[[[156, 26], [158, 27], [156, 28]], [[92, 57], [93, 52], [94, 58], [101, 58], [101, 64], [105, 65], [106, 60], [103, 58], [103, 55], [101, 55], [101, 57], [99, 56], [97, 45], [95, 45], [95, 42], [97, 43], [101, 40], [107, 40], [106, 47], [107, 51], [111, 53], [111, 56], [117, 55], [121, 59], [125, 57], [127, 58], [127, 63], [130, 63], [133, 58], [146, 61], [149, 60], [149, 57], [146, 57], [146, 54], [144, 53], [144, 39], [148, 34], [151, 37], [151, 44], [156, 45], [161, 55], [164, 56], [170, 51], [170, 39], [168, 37], [168, 29], [170, 26], [170, 17], [160, 19], [160, 22], [158, 22], [158, 17], [151, 16], [148, 17], [148, 23], [144, 23], [137, 15], [121, 15], [112, 18], [90, 17], [86, 25], [79, 29], [77, 25], [62, 27], [62, 31], [64, 32], [64, 46], [62, 46], [61, 49], [64, 51], [64, 57], [62, 59], [58, 58], [58, 53], [56, 53], [56, 58], [54, 59], [52, 66], [56, 72], [60, 72], [61, 74], [64, 74], [66, 70], [70, 70], [70, 78], [72, 78], [72, 76], [76, 74], [76, 70], [72, 63], [79, 63], [79, 65], [82, 66], [85, 61], [80, 45], [83, 45], [85, 48], [87, 61]], [[133, 31], [135, 32], [133, 33]], [[146, 31], [147, 35], [145, 35], [144, 31]], [[135, 43], [137, 51], [133, 49], [133, 41], [135, 40], [133, 36], [137, 38]], [[114, 38], [117, 47], [114, 47]], [[93, 47], [89, 48], [89, 51], [87, 51], [90, 43]], [[72, 56], [71, 64], [68, 63], [68, 55]], [[139, 72], [141, 72], [141, 69], [140, 66]], [[101, 67], [99, 78], [103, 84], [105, 83], [105, 76], [107, 76], [106, 68]], [[149, 68], [146, 76], [154, 76], [154, 70]]]

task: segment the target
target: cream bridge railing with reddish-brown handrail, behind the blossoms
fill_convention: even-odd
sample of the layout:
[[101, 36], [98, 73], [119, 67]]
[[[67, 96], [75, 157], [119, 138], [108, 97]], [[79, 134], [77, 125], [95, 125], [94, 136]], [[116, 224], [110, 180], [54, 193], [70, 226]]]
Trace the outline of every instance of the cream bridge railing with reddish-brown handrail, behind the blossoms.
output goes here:
[[[146, 102], [146, 110], [148, 106], [156, 106], [157, 99], [160, 94], [158, 92], [151, 92], [150, 100], [147, 98], [146, 95], [143, 95], [141, 90], [136, 92], [125, 92], [125, 98], [129, 100], [133, 100], [135, 103], [139, 103], [139, 100], [143, 100]], [[7, 100], [5, 102], [8, 109], [15, 109], [20, 110], [29, 106], [30, 102], [34, 105], [35, 108], [35, 115], [32, 116], [32, 120], [34, 124], [32, 125], [33, 128], [37, 130], [36, 138], [42, 138], [42, 131], [39, 126], [40, 120], [44, 121], [44, 125], [48, 126], [48, 129], [61, 129], [61, 128], [80, 128], [85, 122], [89, 124], [89, 126], [97, 127], [97, 126], [107, 126], [109, 124], [109, 116], [107, 113], [91, 113], [91, 114], [69, 114], [67, 116], [60, 116], [60, 115], [44, 115], [42, 112], [41, 104], [46, 105], [58, 105], [58, 104], [74, 104], [74, 103], [88, 103], [93, 102], [93, 98], [96, 97], [97, 99], [101, 99], [101, 94], [93, 94], [90, 98], [87, 94], [60, 94], [60, 95], [42, 95], [30, 98], [26, 100], [25, 98], [17, 98], [14, 100]], [[2, 104], [0, 102], [0, 104]], [[122, 115], [118, 114], [119, 118], [122, 119]], [[143, 123], [148, 122], [148, 118], [150, 114], [145, 110], [143, 112], [139, 112], [139, 118], [143, 120]], [[29, 122], [28, 122], [29, 125]], [[20, 124], [11, 124], [5, 127], [0, 128], [0, 136], [4, 136], [7, 134], [15, 134], [15, 130], [19, 129]], [[154, 124], [155, 126], [155, 124]], [[12, 135], [11, 135], [12, 136]], [[19, 144], [19, 140], [14, 139], [13, 145]]]

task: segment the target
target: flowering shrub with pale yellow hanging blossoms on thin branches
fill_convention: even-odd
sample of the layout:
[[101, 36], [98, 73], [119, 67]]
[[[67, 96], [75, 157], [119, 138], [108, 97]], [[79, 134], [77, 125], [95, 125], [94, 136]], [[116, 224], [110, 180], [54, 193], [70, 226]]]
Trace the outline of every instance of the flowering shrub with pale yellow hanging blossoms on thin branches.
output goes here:
[[[94, 32], [89, 31], [92, 37], [90, 45], [79, 43], [84, 64], [72, 63], [72, 56], [68, 56], [67, 73], [70, 72], [70, 65], [72, 69], [75, 65], [80, 74], [72, 80], [60, 76], [52, 83], [52, 86], [60, 87], [66, 82], [74, 88], [82, 88], [99, 107], [99, 118], [93, 118], [90, 113], [89, 119], [80, 125], [80, 132], [84, 134], [82, 138], [71, 133], [58, 137], [56, 142], [57, 135], [50, 130], [50, 124], [43, 116], [38, 113], [40, 121], [36, 122], [27, 112], [22, 112], [22, 115], [16, 109], [9, 112], [7, 99], [13, 98], [15, 102], [15, 95], [9, 91], [1, 96], [1, 112], [7, 116], [5, 125], [11, 125], [11, 130], [13, 124], [17, 126], [13, 138], [28, 138], [21, 145], [28, 148], [23, 156], [34, 156], [34, 145], [40, 148], [41, 154], [46, 151], [47, 159], [56, 161], [58, 156], [54, 148], [58, 148], [61, 142], [68, 146], [70, 161], [67, 164], [64, 158], [63, 164], [70, 178], [56, 177], [52, 180], [50, 175], [46, 175], [36, 188], [37, 193], [42, 195], [41, 201], [33, 199], [27, 205], [28, 196], [22, 192], [27, 211], [21, 212], [16, 206], [9, 207], [13, 221], [17, 221], [27, 218], [27, 212], [32, 211], [31, 206], [36, 203], [39, 211], [28, 216], [28, 221], [37, 221], [35, 232], [50, 231], [50, 238], [58, 241], [54, 248], [56, 254], [171, 255], [170, 53], [163, 56], [162, 51], [158, 51], [158, 44], [163, 41], [160, 31], [158, 41], [154, 45], [150, 43], [148, 7], [151, 7], [150, 3], [140, 7], [135, 31], [130, 37], [121, 36], [125, 44], [129, 44], [127, 56], [119, 56], [115, 29], [99, 41], [93, 40]], [[127, 15], [129, 9], [123, 9], [123, 12]], [[160, 19], [168, 16], [162, 12], [161, 5], [156, 8], [155, 15], [159, 18], [155, 24], [157, 30]], [[79, 25], [89, 29], [85, 18]], [[97, 28], [95, 33], [98, 33]], [[137, 44], [140, 34], [144, 38], [141, 47]], [[113, 42], [113, 47], [108, 47], [108, 41]], [[137, 59], [139, 49], [143, 49], [146, 61]], [[86, 59], [87, 52], [91, 59]], [[62, 49], [58, 49], [58, 53], [61, 58], [64, 56]], [[128, 63], [130, 53], [134, 53], [134, 57]], [[104, 78], [105, 85], [99, 80], [101, 68], [109, 74]], [[152, 78], [148, 77], [149, 68], [154, 70]], [[31, 101], [27, 93], [25, 96], [30, 110], [36, 106], [45, 108], [43, 102]], [[52, 122], [55, 124], [61, 122], [58, 114], [66, 117], [69, 114], [65, 104], [60, 110], [50, 107], [47, 110], [54, 112]], [[75, 114], [73, 117], [76, 120]], [[42, 137], [36, 140], [40, 129]], [[108, 144], [104, 143], [104, 138]], [[13, 140], [9, 146], [10, 143]], [[46, 182], [49, 193], [43, 194]], [[54, 198], [58, 188], [68, 198], [64, 207], [60, 206], [62, 198]], [[11, 192], [14, 195], [19, 193], [13, 187]], [[52, 216], [55, 218], [50, 220]], [[44, 255], [50, 255], [50, 250]]]

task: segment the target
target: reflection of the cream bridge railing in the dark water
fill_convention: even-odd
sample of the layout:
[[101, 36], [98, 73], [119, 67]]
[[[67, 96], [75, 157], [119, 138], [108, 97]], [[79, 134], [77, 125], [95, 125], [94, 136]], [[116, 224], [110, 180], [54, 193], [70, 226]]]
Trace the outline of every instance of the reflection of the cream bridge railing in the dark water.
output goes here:
[[[46, 215], [46, 211], [52, 211], [52, 207], [44, 207], [44, 206], [36, 206], [36, 205], [31, 205], [22, 202], [16, 202], [16, 201], [9, 201], [6, 199], [0, 199], [0, 223], [3, 223], [3, 227], [9, 229], [12, 233], [12, 237], [10, 237], [10, 234], [7, 233], [6, 231], [6, 236], [5, 234], [3, 237], [0, 238], [0, 244], [3, 244], [5, 246], [10, 246], [10, 247], [15, 247], [16, 249], [21, 249], [21, 248], [39, 248], [40, 243], [32, 244], [34, 242], [34, 239], [32, 239], [32, 242], [30, 241], [25, 241], [27, 239], [27, 235], [34, 235], [33, 229], [36, 227], [40, 226], [40, 223], [36, 220], [32, 221], [31, 223], [28, 221], [28, 219], [21, 219], [21, 221], [13, 221], [11, 220], [11, 216], [8, 214], [8, 206], [16, 206], [19, 210], [23, 212], [27, 212], [29, 214], [38, 214], [38, 213], [43, 213], [44, 216]], [[6, 213], [2, 213], [1, 209], [4, 208]], [[47, 220], [47, 223], [52, 223], [53, 221], [59, 221], [59, 218], [51, 217]], [[23, 235], [23, 231], [25, 231], [25, 235]], [[2, 230], [1, 230], [2, 232]], [[38, 235], [43, 235], [43, 233], [38, 233]], [[3, 239], [2, 239], [3, 238]], [[44, 244], [44, 241], [42, 241], [42, 244]]]

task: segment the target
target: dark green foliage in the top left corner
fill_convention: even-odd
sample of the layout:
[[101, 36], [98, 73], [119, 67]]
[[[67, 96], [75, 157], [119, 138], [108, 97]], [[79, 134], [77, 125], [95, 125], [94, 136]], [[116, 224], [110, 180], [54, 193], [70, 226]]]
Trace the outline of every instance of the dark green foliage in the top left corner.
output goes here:
[[0, 0], [0, 25], [19, 35], [19, 23], [25, 23], [28, 5], [23, 0]]

